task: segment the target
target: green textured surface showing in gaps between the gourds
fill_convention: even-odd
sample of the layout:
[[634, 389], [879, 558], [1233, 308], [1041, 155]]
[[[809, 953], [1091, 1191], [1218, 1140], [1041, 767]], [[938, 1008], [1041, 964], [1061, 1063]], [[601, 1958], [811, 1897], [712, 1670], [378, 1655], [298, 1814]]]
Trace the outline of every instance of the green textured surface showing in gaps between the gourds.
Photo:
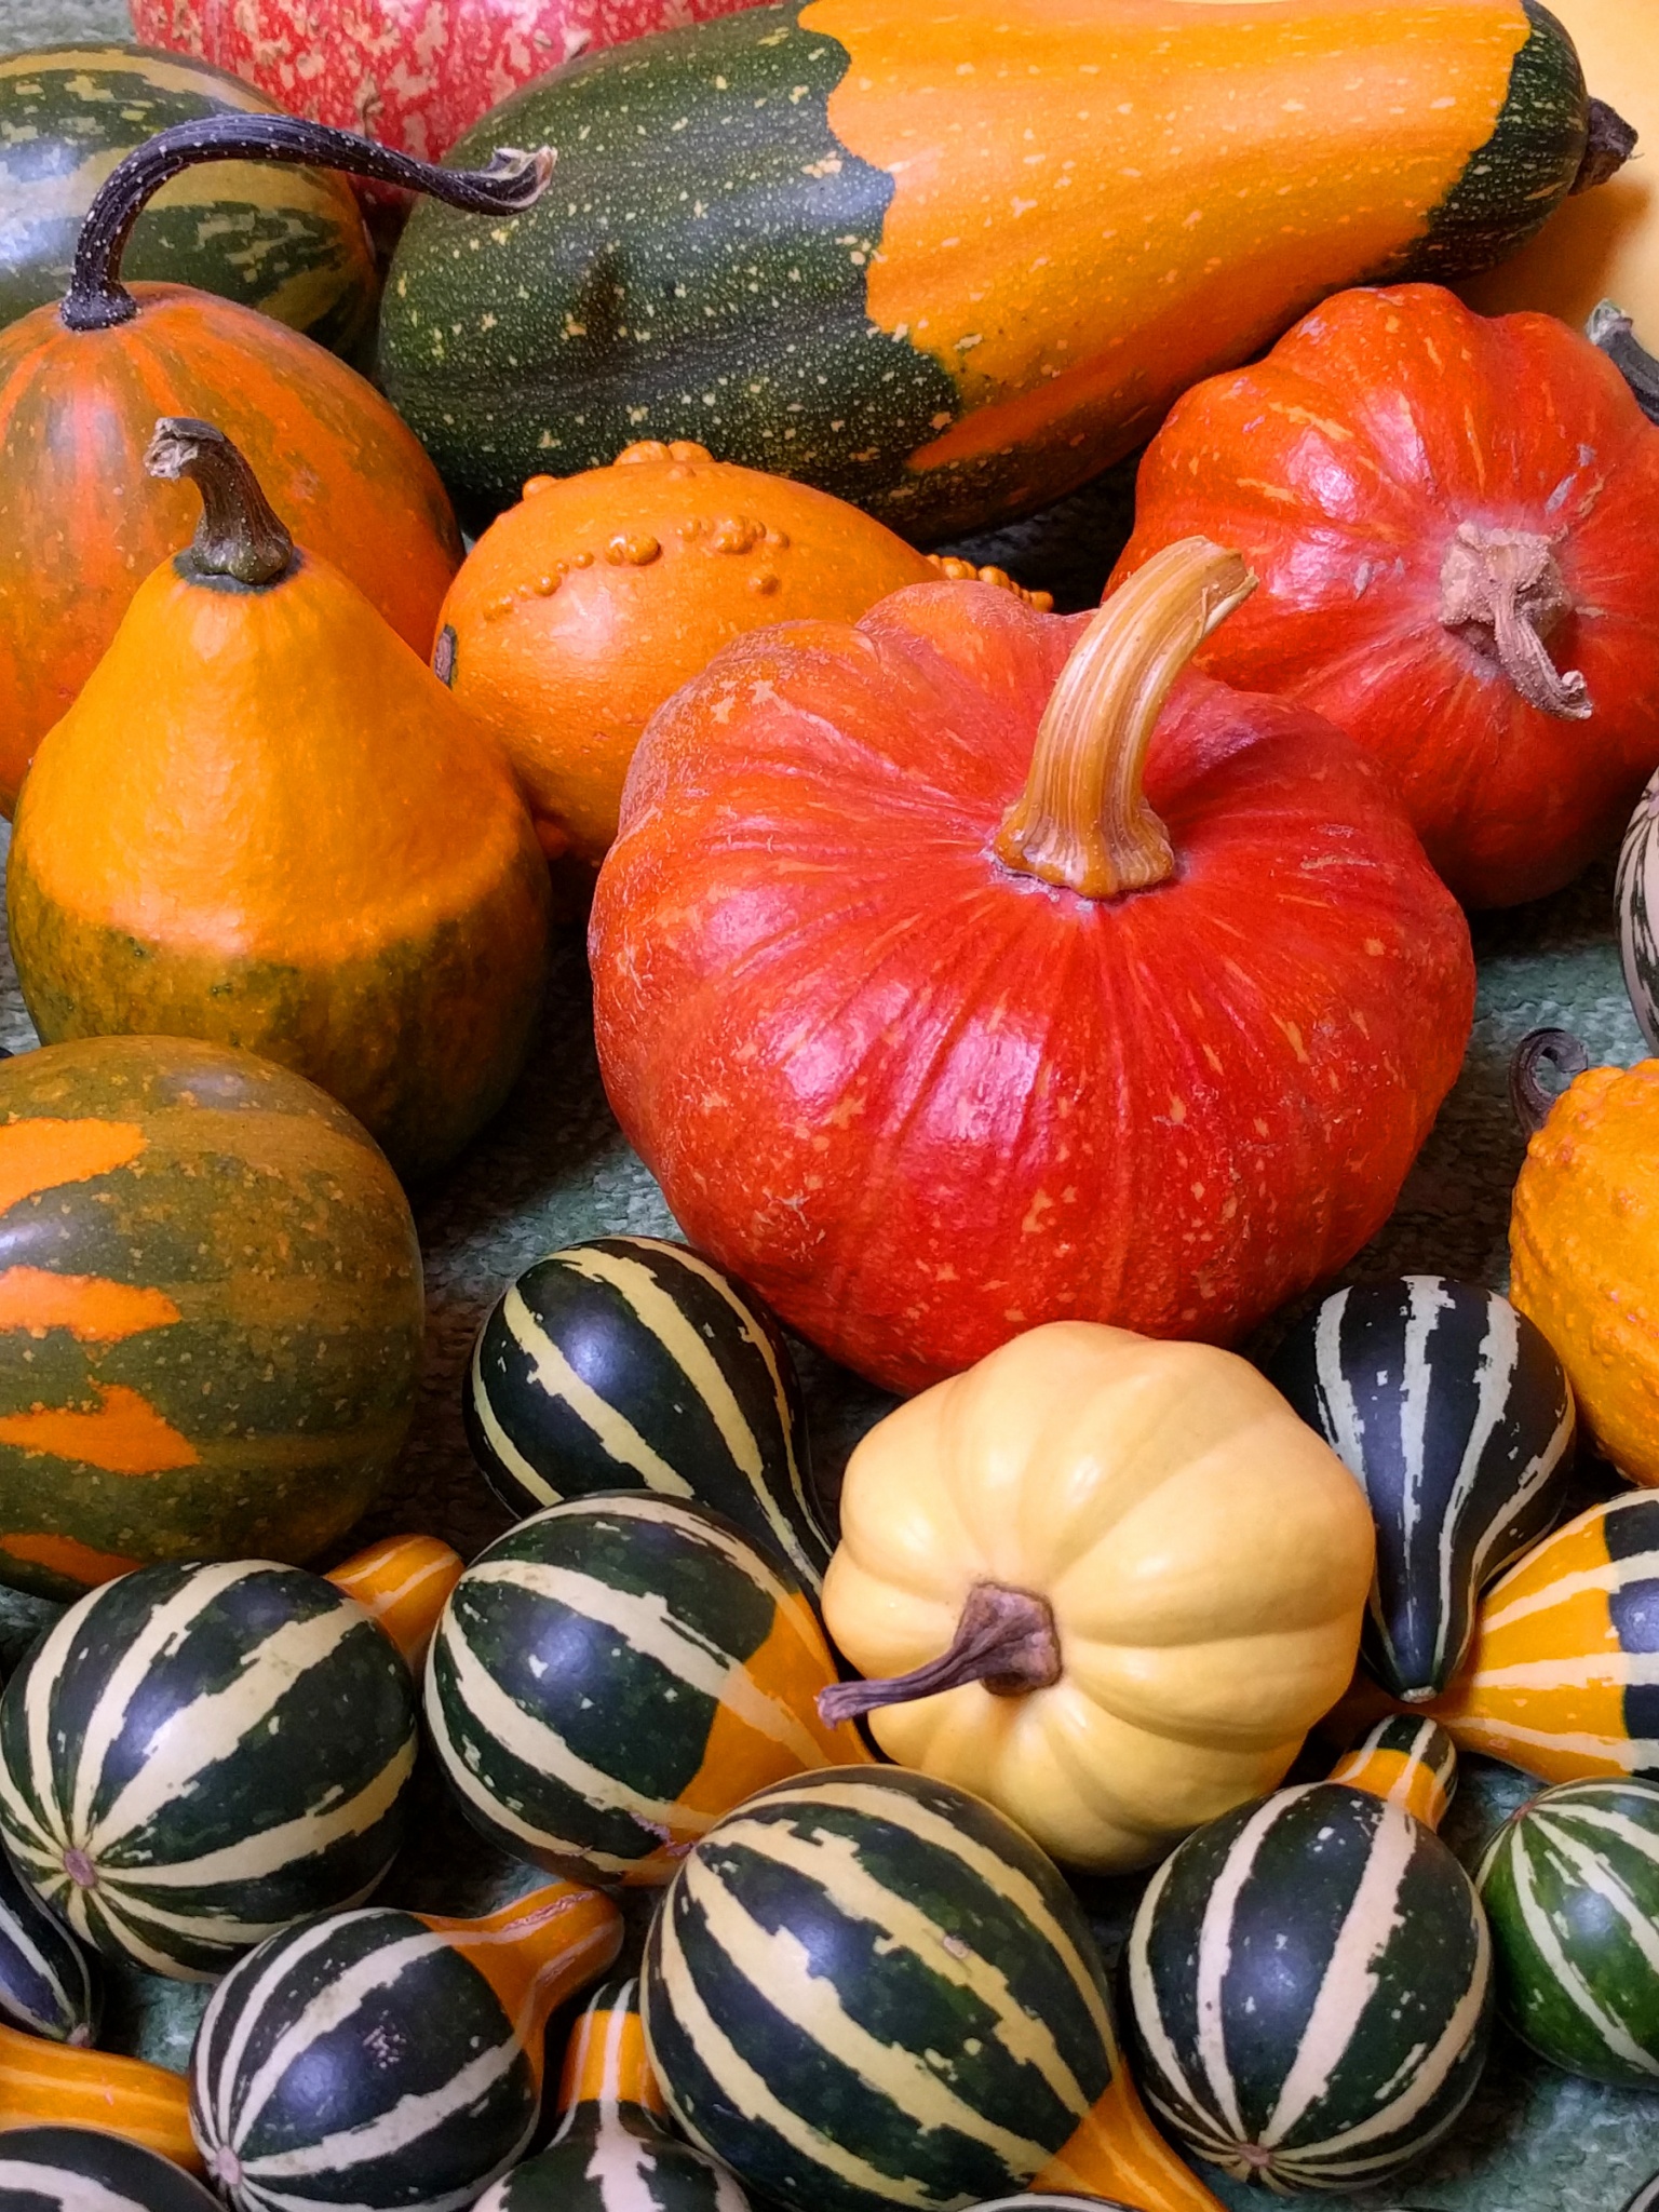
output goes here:
[[[58, 40], [124, 38], [113, 0], [0, 0], [0, 49]], [[1035, 520], [975, 540], [982, 562], [1086, 604], [1099, 588], [1124, 511], [1124, 482], [1068, 502], [1062, 526]], [[1630, 1062], [1641, 1040], [1619, 980], [1610, 874], [1595, 869], [1571, 891], [1531, 909], [1475, 922], [1480, 1002], [1458, 1088], [1411, 1172], [1400, 1206], [1349, 1270], [1420, 1270], [1504, 1287], [1509, 1192], [1522, 1139], [1509, 1113], [1506, 1071], [1520, 1037], [1544, 1022], [1575, 1031], [1595, 1060]], [[33, 1031], [9, 956], [0, 967], [0, 1044], [22, 1051]], [[427, 1369], [422, 1405], [403, 1467], [363, 1535], [429, 1528], [471, 1555], [507, 1517], [476, 1473], [460, 1427], [460, 1374], [473, 1332], [502, 1285], [538, 1254], [593, 1234], [675, 1234], [653, 1179], [617, 1130], [599, 1088], [575, 931], [560, 945], [531, 1068], [471, 1155], [416, 1201], [427, 1263]], [[1285, 1316], [1290, 1318], [1290, 1316]], [[1267, 1332], [1265, 1340], [1272, 1340]], [[834, 1491], [847, 1451], [889, 1405], [880, 1391], [801, 1347], [818, 1475]], [[1595, 1471], [1588, 1486], [1597, 1484]], [[0, 1590], [0, 1659], [15, 1657], [46, 1608]], [[387, 1902], [429, 1911], [478, 1911], [529, 1885], [445, 1805], [420, 1776], [414, 1832], [385, 1889]], [[1473, 1858], [1480, 1838], [1531, 1785], [1509, 1767], [1469, 1761], [1447, 1838]], [[1117, 1947], [1137, 1882], [1084, 1885], [1108, 1947]], [[639, 1922], [646, 1900], [635, 1898]], [[204, 1993], [150, 1975], [115, 1975], [106, 2042], [184, 2066]], [[555, 2024], [557, 2035], [557, 2024]], [[1486, 2079], [1451, 2139], [1400, 2181], [1363, 2199], [1316, 2199], [1332, 2212], [1619, 2212], [1659, 2170], [1659, 2086], [1597, 2088], [1555, 2073], [1500, 2035]], [[1234, 2208], [1261, 2192], [1206, 2179]]]

